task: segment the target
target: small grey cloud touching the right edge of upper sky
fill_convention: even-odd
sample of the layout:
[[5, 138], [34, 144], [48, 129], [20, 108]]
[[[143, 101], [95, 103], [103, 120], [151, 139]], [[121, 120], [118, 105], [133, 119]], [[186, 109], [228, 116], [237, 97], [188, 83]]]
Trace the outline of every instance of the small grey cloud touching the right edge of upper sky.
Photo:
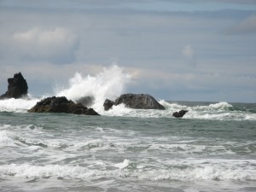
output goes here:
[[255, 34], [256, 33], [256, 15], [251, 15], [242, 20], [238, 25], [228, 30], [229, 34]]

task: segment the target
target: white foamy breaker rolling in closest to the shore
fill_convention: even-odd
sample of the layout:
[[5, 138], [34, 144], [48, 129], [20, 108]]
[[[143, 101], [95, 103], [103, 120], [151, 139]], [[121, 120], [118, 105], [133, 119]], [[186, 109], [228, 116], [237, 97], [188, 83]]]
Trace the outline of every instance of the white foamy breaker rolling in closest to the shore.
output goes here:
[[[255, 163], [255, 162], [254, 162]], [[133, 163], [134, 164], [134, 163]], [[224, 181], [236, 180], [238, 182], [255, 181], [256, 171], [249, 168], [236, 168], [236, 166], [202, 165], [169, 168], [151, 167], [149, 170], [143, 165], [132, 165], [130, 160], [118, 164], [106, 164], [108, 169], [96, 170], [82, 166], [46, 165], [36, 166], [31, 164], [9, 164], [0, 166], [1, 177], [26, 177], [26, 178], [76, 178], [95, 179], [98, 177], [135, 177], [149, 181], [182, 180], [182, 181]], [[138, 167], [138, 168], [137, 168]]]

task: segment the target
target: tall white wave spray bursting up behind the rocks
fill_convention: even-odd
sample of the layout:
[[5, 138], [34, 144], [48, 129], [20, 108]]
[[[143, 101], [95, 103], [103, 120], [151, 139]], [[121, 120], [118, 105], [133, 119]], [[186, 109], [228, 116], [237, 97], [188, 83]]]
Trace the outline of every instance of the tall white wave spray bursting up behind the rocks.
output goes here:
[[84, 96], [92, 96], [95, 99], [91, 106], [96, 111], [103, 110], [105, 99], [115, 99], [125, 91], [125, 86], [131, 80], [131, 75], [124, 73], [121, 67], [113, 65], [104, 68], [102, 73], [96, 76], [87, 75], [83, 77], [81, 73], [75, 73], [69, 79], [67, 88], [55, 89], [56, 96], [66, 96], [67, 99], [77, 101]]

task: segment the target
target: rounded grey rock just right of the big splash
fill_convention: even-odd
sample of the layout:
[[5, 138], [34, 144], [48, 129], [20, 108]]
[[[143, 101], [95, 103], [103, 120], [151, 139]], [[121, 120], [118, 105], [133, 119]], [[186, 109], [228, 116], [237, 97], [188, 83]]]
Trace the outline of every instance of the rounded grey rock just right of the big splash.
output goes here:
[[157, 102], [153, 96], [148, 94], [123, 94], [112, 102], [106, 100], [103, 104], [105, 110], [112, 108], [113, 105], [125, 104], [126, 108], [137, 108], [137, 109], [165, 109], [159, 102]]

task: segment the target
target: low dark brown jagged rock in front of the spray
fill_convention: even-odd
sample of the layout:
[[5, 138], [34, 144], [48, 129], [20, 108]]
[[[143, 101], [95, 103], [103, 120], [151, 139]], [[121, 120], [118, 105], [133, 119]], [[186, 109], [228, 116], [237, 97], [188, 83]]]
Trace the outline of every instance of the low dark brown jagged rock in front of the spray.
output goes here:
[[86, 108], [81, 103], [76, 104], [67, 100], [65, 96], [48, 97], [38, 102], [33, 108], [29, 109], [30, 113], [74, 113], [85, 115], [99, 115], [92, 108]]

